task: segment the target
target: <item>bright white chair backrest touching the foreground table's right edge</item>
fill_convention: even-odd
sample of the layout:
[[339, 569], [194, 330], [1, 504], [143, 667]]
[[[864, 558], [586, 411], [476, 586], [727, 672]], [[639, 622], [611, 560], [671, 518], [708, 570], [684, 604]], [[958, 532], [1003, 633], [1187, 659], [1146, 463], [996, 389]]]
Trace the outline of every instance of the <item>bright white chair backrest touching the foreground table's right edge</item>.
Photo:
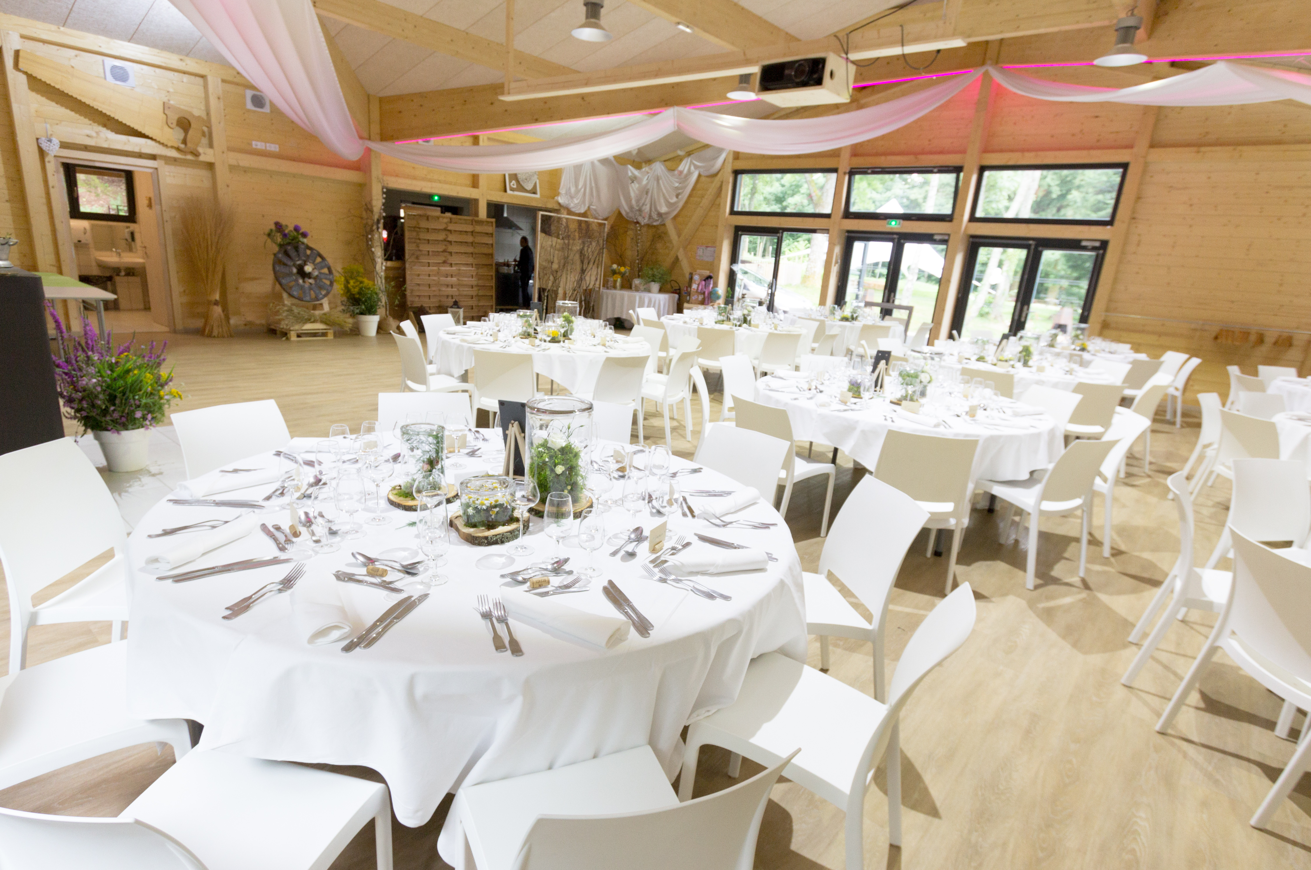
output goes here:
[[864, 476], [832, 519], [819, 553], [819, 575], [832, 571], [881, 622], [906, 550], [927, 519], [928, 511], [910, 495]]

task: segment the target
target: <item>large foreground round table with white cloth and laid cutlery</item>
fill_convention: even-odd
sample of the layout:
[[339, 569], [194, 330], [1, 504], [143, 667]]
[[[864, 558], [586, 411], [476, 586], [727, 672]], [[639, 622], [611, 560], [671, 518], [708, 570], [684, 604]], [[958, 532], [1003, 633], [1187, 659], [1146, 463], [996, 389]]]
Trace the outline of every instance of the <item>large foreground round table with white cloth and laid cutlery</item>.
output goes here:
[[[480, 443], [490, 451], [496, 440], [493, 435]], [[313, 442], [295, 439], [292, 449], [307, 449]], [[499, 470], [501, 459], [492, 456], [488, 465]], [[237, 465], [267, 468], [273, 463], [265, 453]], [[464, 463], [465, 476], [488, 470], [472, 459]], [[674, 459], [675, 468], [690, 465]], [[695, 481], [686, 485], [688, 489], [741, 489], [709, 469], [680, 480]], [[265, 483], [219, 498], [260, 498], [267, 490]], [[688, 498], [694, 506], [713, 502]], [[526, 539], [534, 554], [496, 571], [473, 565], [488, 548], [471, 546], [452, 532], [448, 563], [440, 569], [448, 582], [433, 587], [431, 597], [376, 646], [343, 655], [341, 641], [311, 646], [304, 629], [296, 629], [294, 607], [299, 605], [292, 600], [300, 599], [295, 590], [274, 595], [235, 620], [220, 618], [224, 605], [281, 579], [290, 563], [187, 583], [157, 582], [160, 571], [143, 567], [148, 557], [178, 541], [147, 535], [236, 512], [164, 501], [132, 532], [127, 550], [132, 714], [199, 721], [205, 749], [372, 768], [385, 778], [396, 816], [406, 825], [426, 823], [442, 797], [461, 784], [534, 773], [641, 744], [652, 746], [673, 778], [682, 761], [680, 730], [732, 704], [754, 656], [777, 650], [805, 660], [801, 563], [787, 524], [764, 502], [737, 516], [777, 523], [766, 531], [717, 529], [683, 516], [669, 523], [671, 535], [694, 540], [694, 532], [709, 533], [777, 557], [764, 570], [701, 578], [732, 595], [732, 601], [705, 600], [649, 580], [638, 570], [640, 561], [610, 558], [612, 548], [604, 546], [595, 553], [603, 573], [587, 591], [552, 600], [617, 617], [600, 595], [604, 582], [614, 579], [656, 624], [650, 638], [633, 632], [614, 649], [598, 650], [515, 621], [522, 658], [493, 650], [473, 603], [479, 594], [526, 594], [523, 587], [502, 586], [499, 574], [551, 557], [553, 542], [540, 533], [540, 520], [534, 520]], [[298, 590], [320, 584], [313, 588], [338, 591], [355, 632], [382, 615], [393, 596], [337, 583], [332, 571], [362, 573], [351, 550], [378, 556], [388, 548], [416, 545], [413, 529], [405, 527], [414, 514], [387, 507], [384, 515], [391, 520], [387, 524], [364, 524], [366, 537], [342, 541], [336, 553], [311, 557], [298, 583]], [[287, 508], [270, 508], [258, 519], [284, 525]], [[644, 511], [638, 521], [650, 529], [658, 520]], [[607, 514], [607, 532], [632, 524], [624, 511]], [[691, 549], [713, 550], [701, 542]], [[574, 537], [564, 541], [562, 550], [573, 565], [586, 565], [589, 554], [578, 549]], [[278, 556], [273, 542], [256, 529], [182, 570], [273, 556]], [[447, 818], [439, 848], [456, 863], [459, 820], [454, 814]]]

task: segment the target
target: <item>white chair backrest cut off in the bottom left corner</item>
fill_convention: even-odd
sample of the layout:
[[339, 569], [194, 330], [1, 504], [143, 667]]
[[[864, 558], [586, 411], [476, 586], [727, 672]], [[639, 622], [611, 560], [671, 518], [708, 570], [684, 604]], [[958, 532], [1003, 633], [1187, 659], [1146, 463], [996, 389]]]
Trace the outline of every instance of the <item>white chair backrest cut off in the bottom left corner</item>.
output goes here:
[[190, 849], [135, 819], [20, 812], [0, 807], [5, 870], [205, 870]]

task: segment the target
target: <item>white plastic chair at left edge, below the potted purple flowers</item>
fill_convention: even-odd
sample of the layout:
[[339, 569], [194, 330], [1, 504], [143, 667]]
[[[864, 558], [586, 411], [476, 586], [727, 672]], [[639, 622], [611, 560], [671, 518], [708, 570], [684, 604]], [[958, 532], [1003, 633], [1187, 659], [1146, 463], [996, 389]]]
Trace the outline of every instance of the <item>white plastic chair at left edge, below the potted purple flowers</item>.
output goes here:
[[[9, 673], [25, 666], [28, 629], [34, 625], [105, 620], [113, 622], [111, 639], [122, 639], [127, 618], [127, 536], [114, 497], [96, 466], [73, 439], [60, 438], [0, 456], [0, 480]], [[114, 550], [109, 562], [33, 607], [33, 595], [109, 549]]]

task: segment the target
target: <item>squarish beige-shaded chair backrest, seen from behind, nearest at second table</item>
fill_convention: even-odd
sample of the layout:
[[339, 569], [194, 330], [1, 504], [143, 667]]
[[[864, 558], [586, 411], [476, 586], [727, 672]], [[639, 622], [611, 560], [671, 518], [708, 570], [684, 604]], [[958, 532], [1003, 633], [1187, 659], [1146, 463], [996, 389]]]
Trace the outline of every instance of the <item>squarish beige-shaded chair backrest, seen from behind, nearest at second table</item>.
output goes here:
[[968, 506], [970, 470], [978, 445], [975, 438], [944, 438], [890, 428], [878, 448], [874, 477], [916, 502]]

